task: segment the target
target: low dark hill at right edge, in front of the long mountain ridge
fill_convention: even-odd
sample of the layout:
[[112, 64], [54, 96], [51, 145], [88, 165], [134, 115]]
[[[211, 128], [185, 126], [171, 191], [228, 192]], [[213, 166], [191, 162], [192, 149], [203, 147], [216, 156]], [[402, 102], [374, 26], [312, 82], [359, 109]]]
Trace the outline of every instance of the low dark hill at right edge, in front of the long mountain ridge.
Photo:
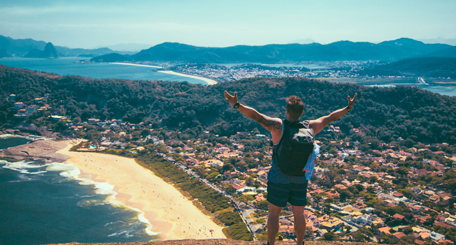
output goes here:
[[456, 58], [419, 57], [375, 66], [359, 72], [361, 75], [394, 75], [424, 77], [456, 77]]

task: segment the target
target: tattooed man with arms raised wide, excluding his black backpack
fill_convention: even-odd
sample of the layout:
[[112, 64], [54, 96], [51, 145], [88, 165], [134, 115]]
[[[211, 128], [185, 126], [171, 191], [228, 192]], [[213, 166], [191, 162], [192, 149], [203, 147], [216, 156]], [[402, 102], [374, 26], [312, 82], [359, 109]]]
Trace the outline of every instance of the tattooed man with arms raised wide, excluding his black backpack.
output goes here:
[[[321, 117], [316, 120], [310, 120], [308, 128], [313, 130], [316, 135], [329, 123], [339, 119], [347, 112], [351, 111], [355, 104], [357, 94], [353, 99], [348, 96], [348, 105], [342, 109], [336, 110], [328, 116]], [[233, 108], [238, 109], [242, 114], [255, 120], [264, 128], [271, 131], [272, 142], [275, 147], [280, 149], [279, 142], [282, 138], [282, 132], [285, 130], [284, 123], [279, 118], [271, 118], [257, 112], [255, 109], [240, 104], [237, 100], [237, 94], [234, 96], [225, 91], [225, 98], [233, 105]], [[304, 113], [304, 103], [297, 96], [287, 98], [286, 117], [289, 122], [299, 122], [301, 115]], [[276, 149], [275, 149], [276, 150]], [[296, 232], [297, 245], [304, 245], [305, 233], [305, 218], [304, 206], [307, 205], [307, 178], [305, 176], [286, 175], [279, 167], [278, 159], [280, 150], [272, 159], [272, 166], [268, 172], [268, 196], [269, 216], [268, 216], [268, 245], [275, 244], [276, 234], [279, 231], [279, 215], [282, 207], [285, 207], [287, 202], [291, 204], [291, 209], [294, 216], [294, 228]], [[304, 170], [303, 170], [304, 171]]]

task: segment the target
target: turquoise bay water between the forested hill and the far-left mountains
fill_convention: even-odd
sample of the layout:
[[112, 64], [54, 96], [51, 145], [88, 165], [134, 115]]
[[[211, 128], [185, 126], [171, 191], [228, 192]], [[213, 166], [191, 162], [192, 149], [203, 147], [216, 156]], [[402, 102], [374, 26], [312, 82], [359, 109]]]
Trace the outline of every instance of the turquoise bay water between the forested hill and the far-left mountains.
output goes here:
[[153, 67], [128, 66], [109, 63], [75, 63], [82, 57], [62, 57], [58, 59], [40, 58], [0, 58], [0, 64], [9, 67], [28, 69], [59, 75], [80, 75], [92, 78], [118, 78], [127, 80], [187, 81], [193, 84], [207, 83], [201, 79], [156, 72]]

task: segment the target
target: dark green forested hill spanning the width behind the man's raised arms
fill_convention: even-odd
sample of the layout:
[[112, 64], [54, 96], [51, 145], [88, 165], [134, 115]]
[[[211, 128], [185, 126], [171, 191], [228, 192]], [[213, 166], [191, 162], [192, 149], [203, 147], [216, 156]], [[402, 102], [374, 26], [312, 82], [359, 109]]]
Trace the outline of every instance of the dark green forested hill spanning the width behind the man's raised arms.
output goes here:
[[348, 95], [353, 97], [358, 93], [353, 111], [333, 123], [343, 132], [363, 127], [368, 135], [385, 141], [401, 136], [421, 142], [456, 143], [456, 98], [415, 87], [364, 87], [294, 77], [247, 78], [202, 86], [187, 82], [51, 76], [5, 66], [0, 66], [0, 86], [3, 126], [9, 126], [13, 119], [13, 104], [5, 100], [11, 93], [18, 95], [16, 101], [25, 103], [51, 94], [49, 103], [54, 115], [65, 114], [82, 120], [123, 118], [132, 123], [152, 123], [154, 127], [179, 128], [190, 135], [204, 130], [230, 135], [258, 127], [225, 101], [225, 90], [237, 91], [241, 103], [280, 118], [285, 117], [285, 98], [297, 95], [306, 104], [302, 120], [340, 109], [347, 105]]

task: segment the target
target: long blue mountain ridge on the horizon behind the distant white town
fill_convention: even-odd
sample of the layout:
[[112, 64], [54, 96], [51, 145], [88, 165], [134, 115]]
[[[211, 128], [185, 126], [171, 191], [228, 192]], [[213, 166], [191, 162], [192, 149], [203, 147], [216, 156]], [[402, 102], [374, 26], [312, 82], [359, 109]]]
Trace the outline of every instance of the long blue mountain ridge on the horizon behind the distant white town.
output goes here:
[[136, 61], [182, 61], [191, 63], [228, 62], [301, 62], [337, 60], [399, 60], [424, 56], [448, 49], [444, 44], [424, 44], [401, 38], [380, 44], [339, 41], [327, 45], [271, 44], [265, 46], [233, 46], [227, 48], [196, 47], [179, 43], [163, 43], [132, 55]]

